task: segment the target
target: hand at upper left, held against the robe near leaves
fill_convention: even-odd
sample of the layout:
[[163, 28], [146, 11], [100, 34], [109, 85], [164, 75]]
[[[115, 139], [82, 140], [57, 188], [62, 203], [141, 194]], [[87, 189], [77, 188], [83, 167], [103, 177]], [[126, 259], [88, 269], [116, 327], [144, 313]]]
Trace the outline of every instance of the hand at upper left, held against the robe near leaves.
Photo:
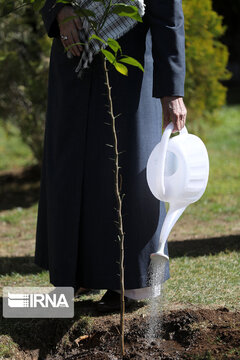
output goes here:
[[[64, 23], [61, 23], [64, 19], [71, 16], [75, 17]], [[63, 35], [67, 37], [65, 40], [61, 38], [64, 48], [67, 48], [74, 43], [80, 42], [78, 30], [82, 29], [82, 22], [75, 13], [72, 6], [66, 5], [61, 8], [57, 14], [57, 22], [60, 29], [60, 36]], [[74, 45], [69, 49], [69, 51], [74, 56], [80, 56], [83, 48], [81, 45]]]

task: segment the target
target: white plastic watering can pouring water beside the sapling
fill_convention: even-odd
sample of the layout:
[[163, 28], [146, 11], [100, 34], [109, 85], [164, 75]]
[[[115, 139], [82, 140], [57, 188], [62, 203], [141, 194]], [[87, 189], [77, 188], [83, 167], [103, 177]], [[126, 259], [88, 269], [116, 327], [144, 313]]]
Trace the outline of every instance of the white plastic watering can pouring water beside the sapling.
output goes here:
[[189, 134], [186, 127], [170, 138], [174, 124], [166, 127], [160, 143], [151, 152], [147, 162], [147, 182], [153, 195], [169, 203], [159, 246], [151, 260], [169, 260], [164, 247], [173, 226], [189, 204], [203, 195], [209, 175], [207, 149], [202, 140]]

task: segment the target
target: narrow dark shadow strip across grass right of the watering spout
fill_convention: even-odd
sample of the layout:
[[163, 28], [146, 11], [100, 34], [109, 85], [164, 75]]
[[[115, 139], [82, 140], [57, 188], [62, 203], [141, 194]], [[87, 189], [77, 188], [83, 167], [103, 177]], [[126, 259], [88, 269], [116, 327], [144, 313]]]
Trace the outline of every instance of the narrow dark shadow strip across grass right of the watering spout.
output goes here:
[[182, 256], [215, 255], [221, 251], [240, 251], [240, 235], [229, 235], [206, 239], [169, 241], [170, 258]]

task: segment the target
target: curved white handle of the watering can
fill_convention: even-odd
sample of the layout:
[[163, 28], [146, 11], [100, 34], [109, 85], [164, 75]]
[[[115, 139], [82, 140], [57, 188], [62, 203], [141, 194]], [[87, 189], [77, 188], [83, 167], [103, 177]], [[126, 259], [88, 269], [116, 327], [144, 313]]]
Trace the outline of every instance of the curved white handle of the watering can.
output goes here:
[[[162, 151], [162, 162], [160, 164], [160, 167], [159, 167], [159, 178], [161, 179], [161, 183], [162, 183], [162, 192], [163, 192], [163, 195], [165, 195], [165, 184], [164, 184], [164, 171], [165, 171], [165, 163], [166, 163], [166, 155], [167, 155], [167, 147], [168, 147], [168, 141], [169, 141], [169, 138], [172, 134], [172, 131], [174, 129], [174, 124], [173, 122], [170, 122], [163, 134], [162, 134], [162, 138], [161, 138], [161, 151]], [[187, 134], [188, 131], [187, 131], [187, 128], [186, 126], [184, 126], [182, 128], [182, 130], [179, 131], [179, 134], [182, 135], [182, 134]]]

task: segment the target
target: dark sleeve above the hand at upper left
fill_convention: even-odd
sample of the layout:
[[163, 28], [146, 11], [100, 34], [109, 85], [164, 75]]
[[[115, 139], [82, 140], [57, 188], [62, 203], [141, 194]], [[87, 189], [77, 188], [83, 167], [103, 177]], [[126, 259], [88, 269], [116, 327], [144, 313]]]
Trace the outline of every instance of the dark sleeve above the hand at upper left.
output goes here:
[[66, 6], [64, 3], [57, 3], [54, 6], [55, 3], [56, 0], [46, 0], [44, 6], [40, 10], [40, 14], [42, 15], [45, 29], [49, 37], [58, 37], [60, 35], [56, 16], [58, 11], [62, 7]]

